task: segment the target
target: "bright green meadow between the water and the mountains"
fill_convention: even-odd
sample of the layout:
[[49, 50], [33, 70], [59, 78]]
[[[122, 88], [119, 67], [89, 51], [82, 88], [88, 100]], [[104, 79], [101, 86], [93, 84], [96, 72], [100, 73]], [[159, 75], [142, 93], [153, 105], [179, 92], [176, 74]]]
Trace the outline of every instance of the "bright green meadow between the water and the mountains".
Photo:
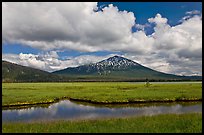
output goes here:
[[2, 106], [55, 102], [63, 97], [95, 103], [202, 99], [202, 83], [2, 83]]

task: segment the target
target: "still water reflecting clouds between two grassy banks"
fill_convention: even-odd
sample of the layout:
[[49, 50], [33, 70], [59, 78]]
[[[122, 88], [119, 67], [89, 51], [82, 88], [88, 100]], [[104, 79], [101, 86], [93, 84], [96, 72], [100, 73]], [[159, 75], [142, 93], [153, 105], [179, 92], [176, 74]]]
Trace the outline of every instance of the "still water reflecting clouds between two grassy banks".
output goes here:
[[32, 122], [202, 112], [202, 102], [93, 105], [63, 100], [47, 107], [2, 110], [2, 122]]

